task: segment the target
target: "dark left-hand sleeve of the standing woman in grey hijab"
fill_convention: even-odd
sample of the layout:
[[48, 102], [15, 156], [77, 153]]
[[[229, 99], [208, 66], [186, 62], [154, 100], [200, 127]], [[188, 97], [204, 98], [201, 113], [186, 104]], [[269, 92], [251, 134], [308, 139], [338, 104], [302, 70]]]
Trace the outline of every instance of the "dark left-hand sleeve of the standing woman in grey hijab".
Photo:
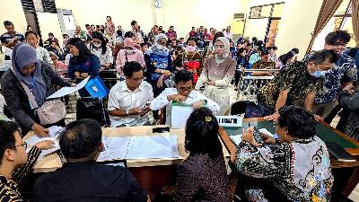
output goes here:
[[19, 96], [19, 93], [21, 92], [19, 88], [16, 87], [16, 82], [16, 80], [9, 81], [8, 79], [3, 78], [1, 82], [2, 93], [7, 103], [7, 107], [13, 114], [14, 119], [30, 129], [32, 125], [35, 124], [35, 121], [22, 109], [22, 101]]

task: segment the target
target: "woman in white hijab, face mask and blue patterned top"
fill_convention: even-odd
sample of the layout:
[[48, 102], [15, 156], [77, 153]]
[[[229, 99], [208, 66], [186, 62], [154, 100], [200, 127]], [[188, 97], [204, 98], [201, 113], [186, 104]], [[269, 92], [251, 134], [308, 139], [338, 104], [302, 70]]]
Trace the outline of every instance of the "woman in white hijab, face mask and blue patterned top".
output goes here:
[[[166, 44], [167, 36], [160, 33], [154, 39], [153, 46], [144, 54], [147, 82], [152, 85], [154, 98], [166, 88], [165, 83], [169, 81], [173, 71], [170, 49], [166, 48]], [[153, 111], [153, 118], [159, 119], [157, 111]]]

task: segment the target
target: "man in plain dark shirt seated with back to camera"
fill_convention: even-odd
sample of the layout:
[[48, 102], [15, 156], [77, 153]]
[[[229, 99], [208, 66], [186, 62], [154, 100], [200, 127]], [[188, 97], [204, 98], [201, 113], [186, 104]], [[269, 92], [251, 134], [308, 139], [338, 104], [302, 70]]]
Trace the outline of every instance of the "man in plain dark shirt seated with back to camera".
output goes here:
[[35, 181], [32, 201], [147, 201], [144, 189], [127, 168], [96, 163], [104, 148], [101, 138], [101, 126], [94, 119], [69, 123], [59, 136], [66, 163]]

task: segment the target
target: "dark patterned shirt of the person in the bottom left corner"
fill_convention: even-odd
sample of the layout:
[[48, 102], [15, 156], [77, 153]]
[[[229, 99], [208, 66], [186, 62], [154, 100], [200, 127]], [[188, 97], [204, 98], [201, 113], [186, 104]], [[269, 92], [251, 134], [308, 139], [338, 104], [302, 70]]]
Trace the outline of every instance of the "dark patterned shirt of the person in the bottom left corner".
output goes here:
[[38, 161], [41, 150], [33, 146], [28, 154], [28, 163], [13, 171], [13, 178], [0, 175], [0, 202], [17, 202], [24, 200], [18, 190], [18, 182], [22, 180]]

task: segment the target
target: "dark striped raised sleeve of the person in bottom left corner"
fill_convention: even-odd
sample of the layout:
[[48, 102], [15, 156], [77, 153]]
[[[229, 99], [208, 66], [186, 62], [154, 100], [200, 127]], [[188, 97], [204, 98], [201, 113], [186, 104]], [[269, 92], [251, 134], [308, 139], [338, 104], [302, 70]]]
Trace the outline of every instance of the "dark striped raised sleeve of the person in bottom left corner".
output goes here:
[[32, 146], [28, 154], [28, 163], [22, 165], [21, 167], [13, 171], [12, 180], [20, 182], [27, 174], [29, 174], [36, 162], [38, 161], [40, 153], [41, 150], [38, 147]]

